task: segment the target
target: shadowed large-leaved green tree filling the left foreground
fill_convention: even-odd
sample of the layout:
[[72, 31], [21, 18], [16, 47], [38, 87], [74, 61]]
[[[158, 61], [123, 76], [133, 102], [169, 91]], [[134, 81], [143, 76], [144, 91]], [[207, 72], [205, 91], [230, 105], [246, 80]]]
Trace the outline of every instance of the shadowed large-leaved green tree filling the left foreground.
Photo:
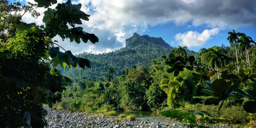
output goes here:
[[[85, 43], [88, 40], [98, 42], [94, 34], [74, 27], [82, 24], [80, 19], [88, 20], [89, 15], [80, 10], [81, 4], [72, 5], [69, 0], [58, 4], [55, 10], [49, 5], [57, 1], [36, 1], [39, 1], [38, 7], [48, 8], [44, 12], [45, 26], [15, 20], [13, 27], [18, 27], [18, 34], [3, 42], [0, 48], [0, 90], [5, 90], [0, 94], [1, 127], [43, 128], [47, 125], [47, 113], [42, 104], [49, 104], [51, 108], [52, 104], [61, 101], [65, 86], [71, 84], [71, 79], [60, 74], [58, 69], [48, 67], [45, 61], [49, 57], [53, 67], [58, 64], [63, 68], [66, 65], [69, 68], [77, 65], [83, 69], [91, 67], [88, 59], [76, 57], [71, 51], [60, 52], [59, 47], [54, 47], [52, 39], [57, 34], [63, 39], [69, 38], [71, 42], [80, 43], [80, 39]], [[69, 29], [67, 23], [73, 28]], [[26, 117], [23, 118], [23, 115]]]

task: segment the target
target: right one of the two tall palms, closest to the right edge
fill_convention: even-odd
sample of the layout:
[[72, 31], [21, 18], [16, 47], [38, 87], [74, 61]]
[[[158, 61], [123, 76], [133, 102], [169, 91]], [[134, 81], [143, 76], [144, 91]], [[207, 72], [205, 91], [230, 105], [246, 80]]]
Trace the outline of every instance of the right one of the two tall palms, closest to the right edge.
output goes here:
[[247, 62], [247, 66], [249, 68], [251, 68], [251, 64], [250, 64], [250, 56], [249, 56], [249, 53], [248, 53], [248, 48], [251, 47], [251, 43], [253, 44], [256, 44], [254, 42], [254, 40], [251, 39], [251, 37], [249, 36], [246, 36], [246, 34], [241, 34], [240, 38], [238, 39], [237, 41], [239, 44], [238, 46], [238, 50], [241, 52], [241, 53], [244, 53], [246, 54], [246, 62]]

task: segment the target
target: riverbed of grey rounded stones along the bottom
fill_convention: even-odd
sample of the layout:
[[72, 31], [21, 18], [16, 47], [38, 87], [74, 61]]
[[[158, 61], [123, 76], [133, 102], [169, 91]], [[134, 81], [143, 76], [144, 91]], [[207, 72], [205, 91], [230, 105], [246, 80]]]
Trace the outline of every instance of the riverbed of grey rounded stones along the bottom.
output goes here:
[[[135, 120], [119, 120], [118, 116], [102, 116], [96, 113], [72, 113], [47, 110], [48, 126], [45, 128], [182, 128], [177, 121], [163, 117], [144, 117]], [[230, 125], [214, 125], [212, 128], [235, 128]]]

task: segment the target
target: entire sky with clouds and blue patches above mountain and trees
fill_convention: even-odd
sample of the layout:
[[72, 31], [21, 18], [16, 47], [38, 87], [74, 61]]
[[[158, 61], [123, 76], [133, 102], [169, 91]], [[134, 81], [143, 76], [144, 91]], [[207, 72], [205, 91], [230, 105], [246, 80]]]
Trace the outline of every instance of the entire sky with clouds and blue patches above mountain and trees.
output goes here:
[[[27, 1], [20, 0], [25, 4]], [[58, 3], [66, 2], [58, 0]], [[228, 32], [245, 33], [256, 41], [256, 0], [72, 0], [82, 4], [81, 10], [91, 15], [82, 21], [84, 31], [93, 33], [99, 42], [80, 44], [62, 41], [55, 37], [66, 50], [73, 54], [94, 54], [114, 51], [125, 47], [125, 39], [133, 33], [162, 37], [172, 47], [187, 46], [198, 52], [222, 44], [230, 46]], [[55, 8], [57, 4], [50, 6]], [[23, 16], [26, 23], [44, 25], [42, 18], [46, 9], [34, 19], [29, 13]]]

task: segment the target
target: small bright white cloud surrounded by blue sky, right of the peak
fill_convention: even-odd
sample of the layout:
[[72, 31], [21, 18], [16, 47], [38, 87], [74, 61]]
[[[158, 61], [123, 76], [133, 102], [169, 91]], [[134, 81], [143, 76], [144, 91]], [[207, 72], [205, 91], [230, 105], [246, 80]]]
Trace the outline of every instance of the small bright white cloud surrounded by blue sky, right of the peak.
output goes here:
[[198, 33], [197, 31], [187, 31], [183, 34], [178, 33], [175, 35], [175, 40], [178, 42], [178, 45], [195, 47], [202, 46], [207, 40], [211, 39], [212, 35], [216, 35], [219, 33], [218, 28], [214, 28], [212, 30], [204, 30], [202, 33]]

